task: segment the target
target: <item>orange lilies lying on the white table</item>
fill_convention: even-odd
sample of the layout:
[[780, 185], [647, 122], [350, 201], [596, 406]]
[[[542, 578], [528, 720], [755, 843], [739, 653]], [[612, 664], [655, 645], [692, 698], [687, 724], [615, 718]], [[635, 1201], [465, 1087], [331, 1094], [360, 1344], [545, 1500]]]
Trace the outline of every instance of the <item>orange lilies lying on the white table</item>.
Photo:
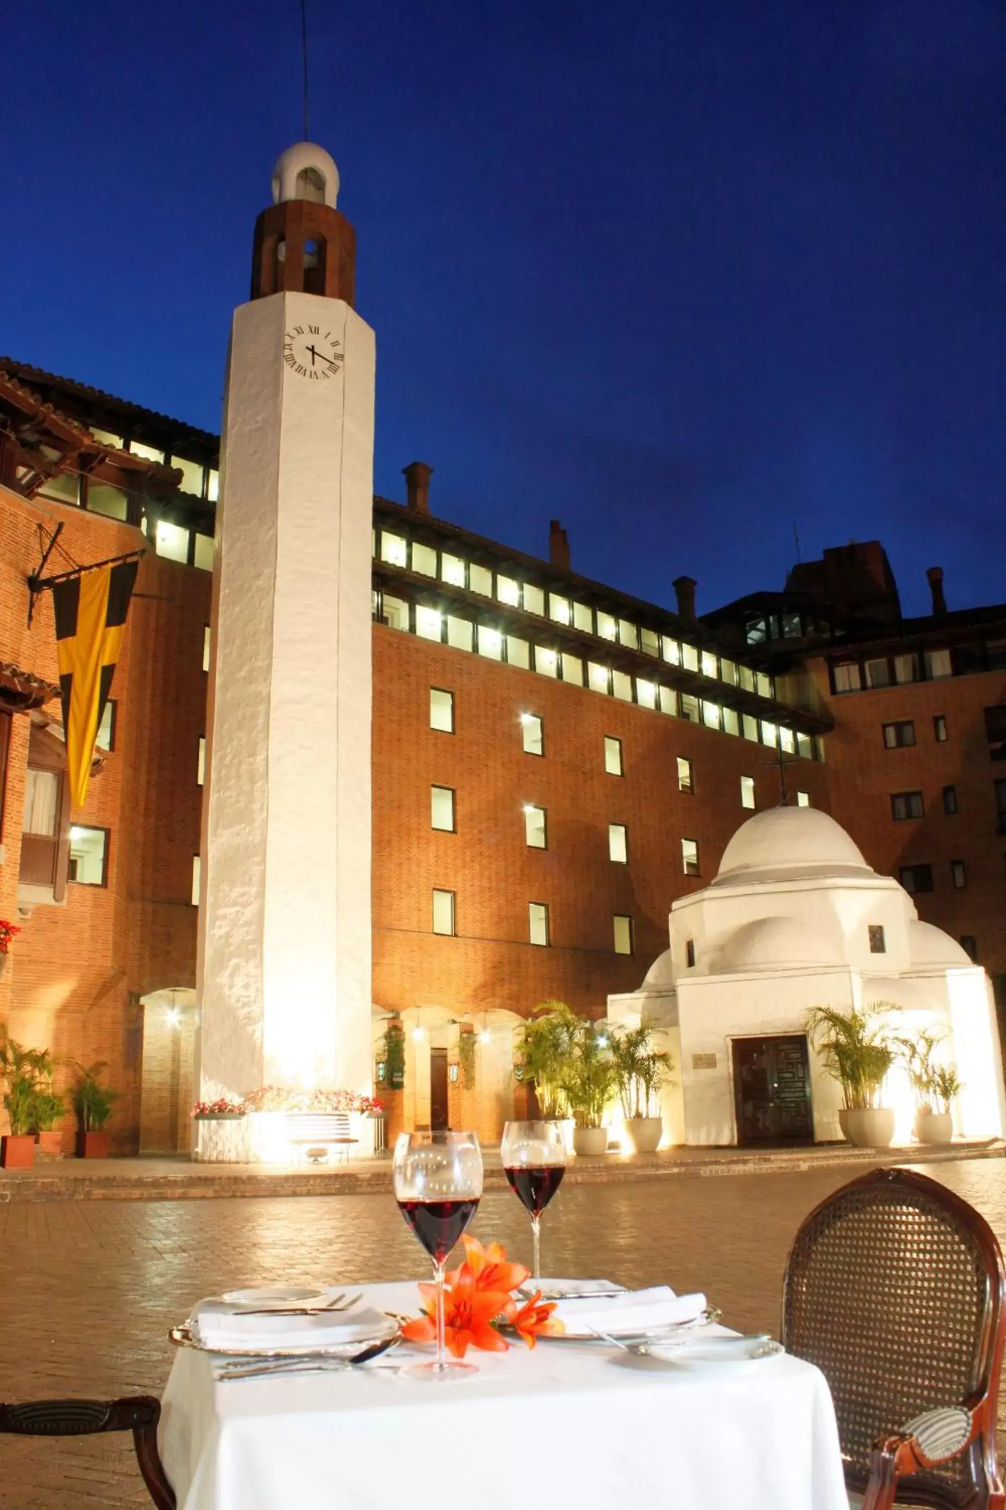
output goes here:
[[[523, 1264], [511, 1264], [499, 1243], [483, 1247], [478, 1238], [463, 1237], [465, 1262], [443, 1276], [443, 1341], [455, 1357], [469, 1347], [484, 1353], [505, 1353], [510, 1342], [498, 1330], [507, 1326], [522, 1342], [534, 1347], [540, 1336], [561, 1336], [566, 1327], [552, 1315], [555, 1302], [543, 1302], [537, 1290], [520, 1302], [516, 1291], [531, 1274]], [[406, 1323], [401, 1335], [410, 1342], [436, 1342], [436, 1285], [419, 1285], [422, 1315]]]

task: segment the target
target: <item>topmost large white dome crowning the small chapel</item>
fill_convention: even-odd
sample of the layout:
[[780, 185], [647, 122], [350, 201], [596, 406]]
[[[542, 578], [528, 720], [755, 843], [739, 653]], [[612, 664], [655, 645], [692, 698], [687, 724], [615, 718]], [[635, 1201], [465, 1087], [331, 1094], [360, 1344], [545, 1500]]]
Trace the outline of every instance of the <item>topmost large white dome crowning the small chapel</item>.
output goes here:
[[842, 824], [819, 808], [769, 808], [742, 823], [727, 844], [713, 886], [855, 877], [875, 871]]

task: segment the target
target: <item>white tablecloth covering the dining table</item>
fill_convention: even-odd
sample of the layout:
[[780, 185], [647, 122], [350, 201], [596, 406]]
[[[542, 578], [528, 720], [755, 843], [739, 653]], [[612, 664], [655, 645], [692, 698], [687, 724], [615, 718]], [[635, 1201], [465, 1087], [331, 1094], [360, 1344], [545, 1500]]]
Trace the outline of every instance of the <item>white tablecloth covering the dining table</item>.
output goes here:
[[[415, 1284], [365, 1293], [418, 1309]], [[469, 1361], [449, 1385], [214, 1383], [179, 1350], [161, 1415], [179, 1510], [848, 1510], [831, 1395], [799, 1359], [700, 1370], [541, 1341]]]

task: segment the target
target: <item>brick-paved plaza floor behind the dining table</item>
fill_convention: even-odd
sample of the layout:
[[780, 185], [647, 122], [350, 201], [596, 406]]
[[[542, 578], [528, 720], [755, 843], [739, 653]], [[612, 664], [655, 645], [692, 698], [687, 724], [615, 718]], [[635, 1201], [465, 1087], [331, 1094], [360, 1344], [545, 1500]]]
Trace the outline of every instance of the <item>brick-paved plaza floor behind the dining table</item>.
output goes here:
[[[925, 1167], [925, 1166], [922, 1166]], [[546, 1270], [706, 1290], [739, 1329], [778, 1329], [789, 1243], [857, 1169], [683, 1176], [563, 1190], [544, 1219]], [[934, 1164], [1006, 1244], [1003, 1160]], [[474, 1229], [529, 1256], [522, 1208], [490, 1191]], [[389, 1196], [89, 1200], [0, 1206], [0, 1398], [160, 1394], [167, 1327], [199, 1296], [264, 1280], [425, 1277]], [[118, 1439], [0, 1439], [3, 1510], [148, 1504]]]

